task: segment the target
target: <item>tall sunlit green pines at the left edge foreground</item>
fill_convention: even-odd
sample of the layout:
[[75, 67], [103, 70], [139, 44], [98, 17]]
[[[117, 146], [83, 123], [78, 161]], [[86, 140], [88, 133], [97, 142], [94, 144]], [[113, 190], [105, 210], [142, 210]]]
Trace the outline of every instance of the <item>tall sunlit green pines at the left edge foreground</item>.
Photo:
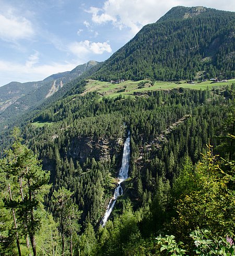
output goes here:
[[41, 226], [44, 195], [50, 188], [49, 173], [42, 170], [40, 161], [32, 150], [21, 144], [19, 134], [19, 129], [14, 129], [15, 142], [12, 149], [7, 150], [6, 157], [0, 159], [0, 172], [3, 176], [1, 189], [2, 193], [5, 193], [1, 212], [5, 215], [7, 223], [7, 209], [11, 210], [14, 217], [15, 234], [6, 234], [5, 230], [6, 239], [11, 235], [16, 237], [20, 251], [19, 238], [30, 238], [33, 255], [36, 255], [35, 235]]

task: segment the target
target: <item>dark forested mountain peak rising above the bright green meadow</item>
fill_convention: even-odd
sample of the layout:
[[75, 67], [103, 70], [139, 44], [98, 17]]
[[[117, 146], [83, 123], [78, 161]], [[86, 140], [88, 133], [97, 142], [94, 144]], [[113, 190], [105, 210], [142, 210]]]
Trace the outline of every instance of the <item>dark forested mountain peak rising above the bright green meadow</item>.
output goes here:
[[177, 6], [104, 62], [93, 79], [235, 76], [235, 13]]

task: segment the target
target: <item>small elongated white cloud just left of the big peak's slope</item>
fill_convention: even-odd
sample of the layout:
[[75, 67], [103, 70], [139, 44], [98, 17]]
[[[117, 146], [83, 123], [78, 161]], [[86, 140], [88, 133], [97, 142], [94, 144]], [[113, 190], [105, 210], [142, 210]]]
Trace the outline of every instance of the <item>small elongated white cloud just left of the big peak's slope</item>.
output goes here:
[[73, 42], [68, 45], [70, 52], [78, 57], [83, 57], [88, 53], [102, 54], [104, 52], [112, 52], [111, 46], [108, 42], [90, 42], [88, 40], [81, 42]]

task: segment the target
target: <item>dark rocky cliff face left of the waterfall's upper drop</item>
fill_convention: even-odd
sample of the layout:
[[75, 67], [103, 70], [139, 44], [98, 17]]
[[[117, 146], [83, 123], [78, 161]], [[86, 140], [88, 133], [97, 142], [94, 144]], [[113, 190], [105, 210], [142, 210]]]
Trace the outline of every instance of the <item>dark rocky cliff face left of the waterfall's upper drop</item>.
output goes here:
[[[63, 147], [59, 146], [61, 144], [57, 141], [57, 139], [60, 139], [57, 134], [53, 135], [52, 139], [55, 140], [54, 142], [58, 147], [58, 154], [62, 163], [65, 159], [72, 158], [74, 164], [78, 161], [83, 166], [87, 158], [94, 158], [96, 161], [107, 161], [112, 160], [114, 156], [117, 162], [120, 163], [116, 167], [119, 169], [126, 136], [124, 127], [120, 127], [120, 133], [116, 134], [115, 137], [107, 135], [102, 137], [76, 136], [70, 138], [70, 141], [64, 141]], [[52, 142], [45, 141], [45, 144], [47, 145], [44, 146], [43, 151], [47, 153], [44, 156], [41, 155], [40, 158], [43, 160], [43, 169], [51, 172], [51, 182], [53, 182], [56, 176], [56, 156], [53, 153], [55, 149], [49, 146], [53, 144]]]

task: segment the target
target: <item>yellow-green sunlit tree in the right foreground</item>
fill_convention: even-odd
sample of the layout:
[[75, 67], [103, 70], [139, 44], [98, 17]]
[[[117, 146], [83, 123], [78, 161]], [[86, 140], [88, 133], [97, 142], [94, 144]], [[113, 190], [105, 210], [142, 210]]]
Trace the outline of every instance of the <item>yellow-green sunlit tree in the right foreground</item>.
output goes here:
[[[207, 227], [216, 235], [233, 234], [234, 219], [234, 167], [230, 173], [222, 171], [216, 156], [211, 153], [212, 146], [203, 155], [195, 170], [193, 178], [194, 190], [182, 194], [178, 200], [175, 219], [178, 234], [186, 234], [192, 229]], [[183, 235], [181, 234], [181, 235]]]

